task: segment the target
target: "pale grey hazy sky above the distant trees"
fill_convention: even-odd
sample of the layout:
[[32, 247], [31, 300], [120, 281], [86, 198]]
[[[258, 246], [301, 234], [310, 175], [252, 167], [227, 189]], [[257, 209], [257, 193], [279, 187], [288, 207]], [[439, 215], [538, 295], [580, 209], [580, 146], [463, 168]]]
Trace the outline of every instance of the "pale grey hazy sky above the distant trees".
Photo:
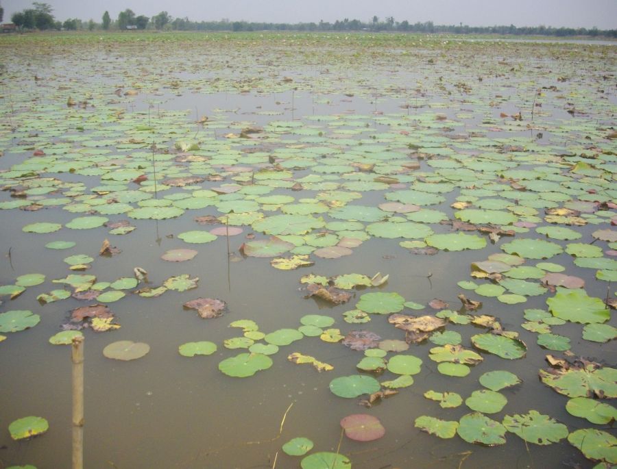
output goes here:
[[[165, 10], [191, 20], [271, 21], [274, 23], [333, 22], [349, 18], [433, 21], [438, 25], [569, 26], [617, 28], [617, 0], [47, 0], [57, 19], [93, 18], [100, 22], [105, 10], [112, 18], [125, 8], [153, 16]], [[0, 0], [4, 21], [32, 5], [31, 0]]]

